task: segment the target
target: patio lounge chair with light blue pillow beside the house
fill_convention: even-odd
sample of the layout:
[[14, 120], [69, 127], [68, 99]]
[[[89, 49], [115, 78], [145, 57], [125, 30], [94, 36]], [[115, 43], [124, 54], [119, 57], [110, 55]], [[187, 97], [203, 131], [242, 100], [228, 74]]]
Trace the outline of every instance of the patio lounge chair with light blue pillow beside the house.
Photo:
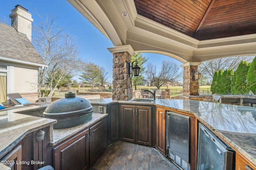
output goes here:
[[25, 98], [22, 98], [22, 96], [19, 93], [10, 93], [7, 94], [7, 96], [12, 100], [12, 102], [16, 105], [44, 105], [44, 104], [50, 104], [50, 102], [44, 102], [44, 100], [41, 100], [39, 102], [30, 103]]

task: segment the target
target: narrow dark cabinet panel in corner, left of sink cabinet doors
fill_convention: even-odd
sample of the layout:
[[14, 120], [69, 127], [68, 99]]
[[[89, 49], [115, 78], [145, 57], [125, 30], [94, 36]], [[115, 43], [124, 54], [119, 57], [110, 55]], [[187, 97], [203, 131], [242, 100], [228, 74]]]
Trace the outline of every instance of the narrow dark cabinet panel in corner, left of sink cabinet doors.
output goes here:
[[118, 125], [119, 125], [119, 106], [118, 105], [113, 105], [111, 106], [110, 110], [110, 140], [111, 142], [113, 141], [118, 141]]

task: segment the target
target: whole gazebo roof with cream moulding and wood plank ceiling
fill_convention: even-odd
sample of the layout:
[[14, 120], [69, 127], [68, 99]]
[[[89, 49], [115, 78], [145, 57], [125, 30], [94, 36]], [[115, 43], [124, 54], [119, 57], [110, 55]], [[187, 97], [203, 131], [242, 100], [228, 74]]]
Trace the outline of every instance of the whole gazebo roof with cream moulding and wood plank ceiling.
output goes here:
[[115, 47], [182, 63], [256, 54], [254, 0], [68, 1]]

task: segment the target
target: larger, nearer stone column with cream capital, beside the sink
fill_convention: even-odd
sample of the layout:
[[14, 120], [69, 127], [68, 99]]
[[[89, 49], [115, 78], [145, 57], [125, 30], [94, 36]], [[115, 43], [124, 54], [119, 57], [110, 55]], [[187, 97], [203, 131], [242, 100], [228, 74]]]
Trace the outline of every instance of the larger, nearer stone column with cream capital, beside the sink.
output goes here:
[[132, 78], [129, 63], [135, 55], [130, 45], [108, 48], [113, 54], [113, 89], [112, 99], [127, 101], [132, 99]]

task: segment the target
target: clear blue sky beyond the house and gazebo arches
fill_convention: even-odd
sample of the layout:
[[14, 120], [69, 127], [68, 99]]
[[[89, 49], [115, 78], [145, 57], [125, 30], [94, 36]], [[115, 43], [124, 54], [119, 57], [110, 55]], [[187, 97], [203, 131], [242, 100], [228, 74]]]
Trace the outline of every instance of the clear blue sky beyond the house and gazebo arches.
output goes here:
[[[76, 37], [77, 45], [80, 49], [80, 57], [87, 62], [92, 62], [99, 66], [103, 66], [108, 72], [108, 79], [112, 82], [112, 54], [107, 48], [113, 47], [112, 42], [107, 39], [98, 29], [96, 29], [89, 21], [84, 18], [71, 4], [66, 0], [0, 0], [0, 19], [7, 20], [9, 25], [11, 19], [9, 15], [16, 5], [21, 5], [32, 14], [34, 22], [38, 24], [42, 22], [34, 11], [46, 18], [46, 15], [52, 13], [58, 16], [57, 25]], [[33, 38], [33, 37], [32, 37]], [[143, 53], [148, 58], [148, 62], [162, 66], [163, 60], [170, 60], [178, 65], [179, 61], [164, 55], [151, 53]], [[159, 67], [160, 69], [160, 67]]]

